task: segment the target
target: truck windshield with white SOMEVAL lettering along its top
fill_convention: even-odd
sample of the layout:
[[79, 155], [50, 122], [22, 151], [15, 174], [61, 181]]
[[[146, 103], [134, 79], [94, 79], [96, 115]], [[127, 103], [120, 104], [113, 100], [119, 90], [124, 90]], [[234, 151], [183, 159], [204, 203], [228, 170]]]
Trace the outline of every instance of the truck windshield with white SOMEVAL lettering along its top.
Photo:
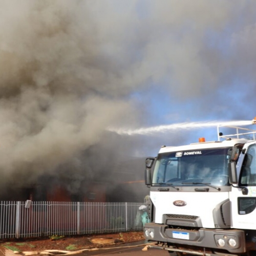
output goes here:
[[229, 180], [228, 161], [227, 148], [161, 153], [155, 164], [152, 185], [208, 183], [225, 186]]

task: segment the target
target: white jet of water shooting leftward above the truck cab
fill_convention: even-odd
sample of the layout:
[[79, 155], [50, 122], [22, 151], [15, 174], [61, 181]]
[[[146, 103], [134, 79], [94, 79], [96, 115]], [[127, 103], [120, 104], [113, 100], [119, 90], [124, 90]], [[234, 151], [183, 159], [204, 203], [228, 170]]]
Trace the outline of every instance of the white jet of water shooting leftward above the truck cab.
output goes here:
[[109, 131], [116, 132], [120, 135], [149, 135], [153, 133], [165, 133], [167, 131], [175, 131], [178, 129], [193, 129], [193, 128], [207, 128], [207, 127], [217, 127], [221, 126], [249, 126], [252, 125], [252, 121], [210, 121], [210, 122], [184, 122], [171, 125], [160, 125], [148, 128], [138, 128], [138, 129], [126, 129], [126, 128], [109, 128]]

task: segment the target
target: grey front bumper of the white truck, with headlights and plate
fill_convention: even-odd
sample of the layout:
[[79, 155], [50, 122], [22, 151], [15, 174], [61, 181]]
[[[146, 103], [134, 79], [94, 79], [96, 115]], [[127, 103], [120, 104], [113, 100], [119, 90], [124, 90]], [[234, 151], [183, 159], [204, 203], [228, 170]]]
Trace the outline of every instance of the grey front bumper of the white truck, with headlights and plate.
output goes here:
[[233, 255], [246, 252], [245, 235], [242, 230], [205, 228], [200, 228], [199, 230], [171, 229], [165, 224], [146, 223], [144, 235], [148, 241], [164, 242], [168, 245], [211, 248], [213, 251], [225, 250]]

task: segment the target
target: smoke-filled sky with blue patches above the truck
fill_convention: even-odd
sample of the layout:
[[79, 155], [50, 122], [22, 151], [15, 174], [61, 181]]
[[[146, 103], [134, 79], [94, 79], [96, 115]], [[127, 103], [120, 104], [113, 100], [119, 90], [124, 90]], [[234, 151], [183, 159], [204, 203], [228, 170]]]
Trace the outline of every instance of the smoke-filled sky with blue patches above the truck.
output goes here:
[[255, 8], [254, 0], [0, 0], [2, 177], [68, 173], [76, 190], [118, 161], [216, 139], [214, 126], [118, 130], [252, 120]]

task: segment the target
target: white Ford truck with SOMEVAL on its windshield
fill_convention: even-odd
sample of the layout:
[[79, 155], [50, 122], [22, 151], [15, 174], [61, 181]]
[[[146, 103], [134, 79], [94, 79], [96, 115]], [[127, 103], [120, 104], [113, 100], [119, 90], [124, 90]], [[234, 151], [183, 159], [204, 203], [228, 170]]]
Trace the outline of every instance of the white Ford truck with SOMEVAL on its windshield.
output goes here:
[[162, 146], [146, 159], [149, 248], [171, 256], [256, 256], [255, 134], [218, 125], [217, 141]]

